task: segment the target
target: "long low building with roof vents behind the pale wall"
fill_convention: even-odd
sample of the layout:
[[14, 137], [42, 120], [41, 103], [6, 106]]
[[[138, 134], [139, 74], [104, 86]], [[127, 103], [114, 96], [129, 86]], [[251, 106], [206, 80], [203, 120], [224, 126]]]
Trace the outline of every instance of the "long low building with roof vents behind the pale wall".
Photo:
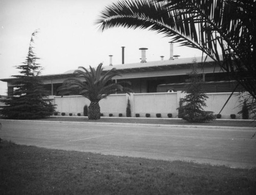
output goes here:
[[[141, 48], [146, 49], [146, 48]], [[142, 50], [145, 52], [145, 50]], [[110, 56], [112, 57], [112, 56]], [[112, 60], [110, 60], [111, 62]], [[142, 53], [140, 62], [129, 64], [118, 64], [113, 66], [103, 66], [104, 71], [115, 68], [121, 73], [121, 76], [114, 77], [113, 82], [130, 81], [131, 89], [134, 93], [156, 93], [182, 91], [188, 79], [188, 73], [191, 72], [194, 62], [197, 62], [197, 71], [202, 74], [205, 81], [204, 90], [206, 93], [232, 92], [236, 86], [236, 81], [230, 80], [228, 74], [210, 59], [202, 57], [194, 58], [173, 58], [159, 61], [147, 62], [145, 54]], [[49, 95], [58, 95], [57, 89], [62, 82], [74, 77], [74, 70], [69, 70], [61, 74], [41, 75], [45, 88], [49, 90]], [[15, 78], [4, 78], [1, 81], [7, 82], [8, 95], [13, 92], [14, 85], [12, 81]], [[240, 91], [238, 88], [236, 91]]]

